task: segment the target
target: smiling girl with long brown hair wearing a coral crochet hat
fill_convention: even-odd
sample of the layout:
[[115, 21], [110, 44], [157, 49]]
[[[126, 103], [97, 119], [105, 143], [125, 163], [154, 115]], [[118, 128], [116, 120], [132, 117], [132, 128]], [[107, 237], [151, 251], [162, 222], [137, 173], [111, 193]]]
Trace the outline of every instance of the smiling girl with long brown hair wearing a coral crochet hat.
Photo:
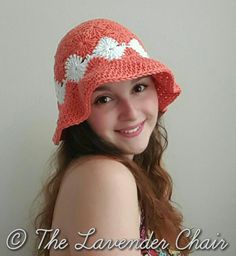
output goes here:
[[[62, 38], [54, 73], [53, 142], [61, 143], [35, 227], [58, 228], [58, 241], [68, 243], [49, 248], [52, 233], [39, 233], [38, 255], [187, 255], [177, 250], [182, 216], [171, 204], [172, 182], [162, 164], [161, 118], [181, 92], [171, 70], [124, 26], [94, 19]], [[98, 239], [141, 242], [151, 235], [166, 246], [95, 250]], [[188, 242], [184, 234], [178, 239], [182, 247]]]

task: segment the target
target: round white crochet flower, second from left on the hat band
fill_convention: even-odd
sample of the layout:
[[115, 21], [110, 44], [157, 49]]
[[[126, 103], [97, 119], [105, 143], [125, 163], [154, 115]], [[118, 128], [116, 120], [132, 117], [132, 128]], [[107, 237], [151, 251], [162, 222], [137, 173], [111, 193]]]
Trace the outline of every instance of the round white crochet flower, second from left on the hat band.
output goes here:
[[83, 61], [82, 57], [73, 54], [70, 55], [65, 63], [66, 79], [79, 82], [85, 73], [87, 61]]

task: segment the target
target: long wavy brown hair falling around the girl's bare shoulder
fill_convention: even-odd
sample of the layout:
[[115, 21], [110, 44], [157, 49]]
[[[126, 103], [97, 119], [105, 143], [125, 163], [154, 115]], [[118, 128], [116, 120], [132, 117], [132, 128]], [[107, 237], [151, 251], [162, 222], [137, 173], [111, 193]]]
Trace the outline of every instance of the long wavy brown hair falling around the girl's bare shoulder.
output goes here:
[[[183, 217], [173, 206], [172, 179], [162, 164], [168, 139], [161, 119], [159, 114], [147, 148], [141, 154], [135, 155], [133, 161], [123, 157], [118, 148], [100, 138], [86, 121], [66, 128], [63, 131], [63, 140], [52, 156], [51, 162], [55, 171], [38, 195], [42, 194], [44, 201], [34, 221], [35, 229], [51, 229], [58, 191], [69, 165], [81, 156], [103, 155], [120, 161], [132, 172], [137, 184], [139, 206], [145, 214], [146, 232], [154, 231], [156, 239], [165, 239], [172, 249], [176, 249], [175, 242], [182, 230]], [[38, 235], [39, 241], [41, 238], [42, 236]], [[46, 236], [36, 255], [49, 255], [49, 250], [43, 250], [49, 239], [50, 235]], [[188, 237], [182, 235], [179, 245], [186, 246], [189, 241]], [[182, 253], [188, 255], [189, 251], [185, 250]]]

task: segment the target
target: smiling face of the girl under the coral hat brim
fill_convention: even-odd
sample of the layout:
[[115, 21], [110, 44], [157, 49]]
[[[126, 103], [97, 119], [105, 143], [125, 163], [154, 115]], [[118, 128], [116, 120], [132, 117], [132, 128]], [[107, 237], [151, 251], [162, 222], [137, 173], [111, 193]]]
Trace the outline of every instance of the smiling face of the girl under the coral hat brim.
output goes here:
[[151, 76], [113, 82], [92, 94], [88, 123], [130, 159], [142, 153], [156, 125], [158, 98]]

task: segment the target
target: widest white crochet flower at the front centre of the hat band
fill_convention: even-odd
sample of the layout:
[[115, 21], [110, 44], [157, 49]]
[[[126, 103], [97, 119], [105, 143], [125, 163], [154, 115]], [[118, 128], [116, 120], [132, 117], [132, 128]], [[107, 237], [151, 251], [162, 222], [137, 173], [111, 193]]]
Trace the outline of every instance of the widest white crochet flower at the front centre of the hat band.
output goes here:
[[103, 37], [95, 47], [93, 55], [94, 57], [104, 57], [109, 60], [120, 59], [124, 54], [125, 48], [125, 43], [119, 45], [115, 39]]

